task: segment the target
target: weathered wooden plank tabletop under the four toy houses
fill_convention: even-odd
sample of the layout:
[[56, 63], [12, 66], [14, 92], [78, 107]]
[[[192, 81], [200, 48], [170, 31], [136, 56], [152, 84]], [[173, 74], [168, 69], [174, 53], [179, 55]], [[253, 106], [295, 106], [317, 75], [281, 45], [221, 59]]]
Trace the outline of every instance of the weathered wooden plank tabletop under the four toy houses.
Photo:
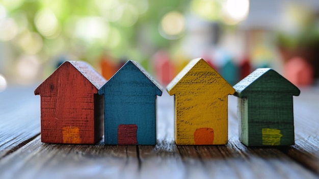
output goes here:
[[0, 178], [319, 178], [319, 88], [294, 97], [296, 144], [246, 147], [238, 141], [237, 99], [229, 96], [229, 141], [174, 144], [174, 98], [157, 97], [156, 146], [46, 144], [35, 87], [0, 93]]

